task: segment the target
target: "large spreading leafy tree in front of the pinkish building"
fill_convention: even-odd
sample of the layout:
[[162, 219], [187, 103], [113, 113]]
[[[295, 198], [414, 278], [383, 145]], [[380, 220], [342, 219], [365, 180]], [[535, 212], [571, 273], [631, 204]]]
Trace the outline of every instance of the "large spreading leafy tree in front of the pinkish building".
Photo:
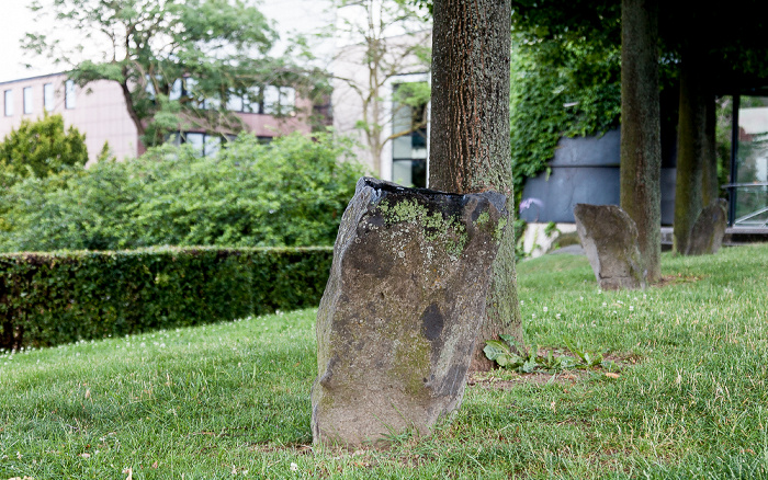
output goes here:
[[[227, 114], [230, 98], [252, 104], [264, 94], [256, 87], [309, 83], [268, 55], [276, 35], [244, 0], [35, 0], [31, 8], [81, 43], [68, 48], [56, 32], [30, 33], [23, 47], [69, 69], [81, 87], [117, 82], [145, 146], [180, 128], [231, 134], [240, 124]], [[80, 61], [83, 49], [99, 58]]]

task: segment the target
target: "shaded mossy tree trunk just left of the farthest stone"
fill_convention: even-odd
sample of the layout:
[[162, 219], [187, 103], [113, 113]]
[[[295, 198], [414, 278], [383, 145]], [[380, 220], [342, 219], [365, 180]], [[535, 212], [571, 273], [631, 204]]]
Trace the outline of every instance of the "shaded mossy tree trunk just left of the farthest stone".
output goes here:
[[684, 53], [680, 66], [680, 110], [677, 126], [677, 180], [673, 250], [687, 254], [691, 228], [702, 209], [702, 170], [707, 148], [707, 101], [702, 69]]

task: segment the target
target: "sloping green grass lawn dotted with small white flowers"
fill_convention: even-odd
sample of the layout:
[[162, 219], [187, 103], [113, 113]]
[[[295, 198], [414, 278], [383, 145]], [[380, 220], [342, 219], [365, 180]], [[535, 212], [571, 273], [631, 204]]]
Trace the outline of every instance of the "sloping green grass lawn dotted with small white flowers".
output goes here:
[[313, 310], [2, 352], [0, 480], [768, 478], [768, 245], [663, 273], [600, 293], [585, 258], [523, 262], [529, 342], [608, 351], [618, 378], [497, 372], [387, 452], [312, 448]]

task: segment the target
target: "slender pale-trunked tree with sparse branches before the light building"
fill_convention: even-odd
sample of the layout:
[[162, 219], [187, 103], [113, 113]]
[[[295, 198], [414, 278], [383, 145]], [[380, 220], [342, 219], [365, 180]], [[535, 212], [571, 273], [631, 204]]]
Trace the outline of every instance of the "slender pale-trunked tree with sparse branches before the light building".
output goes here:
[[[360, 102], [354, 127], [363, 134], [373, 171], [381, 174], [382, 152], [395, 138], [427, 125], [429, 84], [404, 82], [392, 92], [392, 79], [408, 73], [427, 73], [430, 62], [429, 23], [420, 8], [407, 0], [337, 0], [337, 25], [328, 33], [348, 46], [332, 60], [332, 77], [340, 83], [337, 98], [353, 94]], [[360, 66], [362, 65], [362, 69]], [[409, 126], [385, 132], [398, 116], [393, 102], [413, 108], [417, 117]]]

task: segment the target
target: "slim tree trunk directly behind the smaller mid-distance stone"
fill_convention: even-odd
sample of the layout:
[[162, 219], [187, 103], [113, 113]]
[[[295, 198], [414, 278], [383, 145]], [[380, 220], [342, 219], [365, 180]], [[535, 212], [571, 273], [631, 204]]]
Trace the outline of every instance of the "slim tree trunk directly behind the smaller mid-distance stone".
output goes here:
[[648, 282], [662, 275], [658, 4], [621, 2], [621, 208], [637, 226]]

